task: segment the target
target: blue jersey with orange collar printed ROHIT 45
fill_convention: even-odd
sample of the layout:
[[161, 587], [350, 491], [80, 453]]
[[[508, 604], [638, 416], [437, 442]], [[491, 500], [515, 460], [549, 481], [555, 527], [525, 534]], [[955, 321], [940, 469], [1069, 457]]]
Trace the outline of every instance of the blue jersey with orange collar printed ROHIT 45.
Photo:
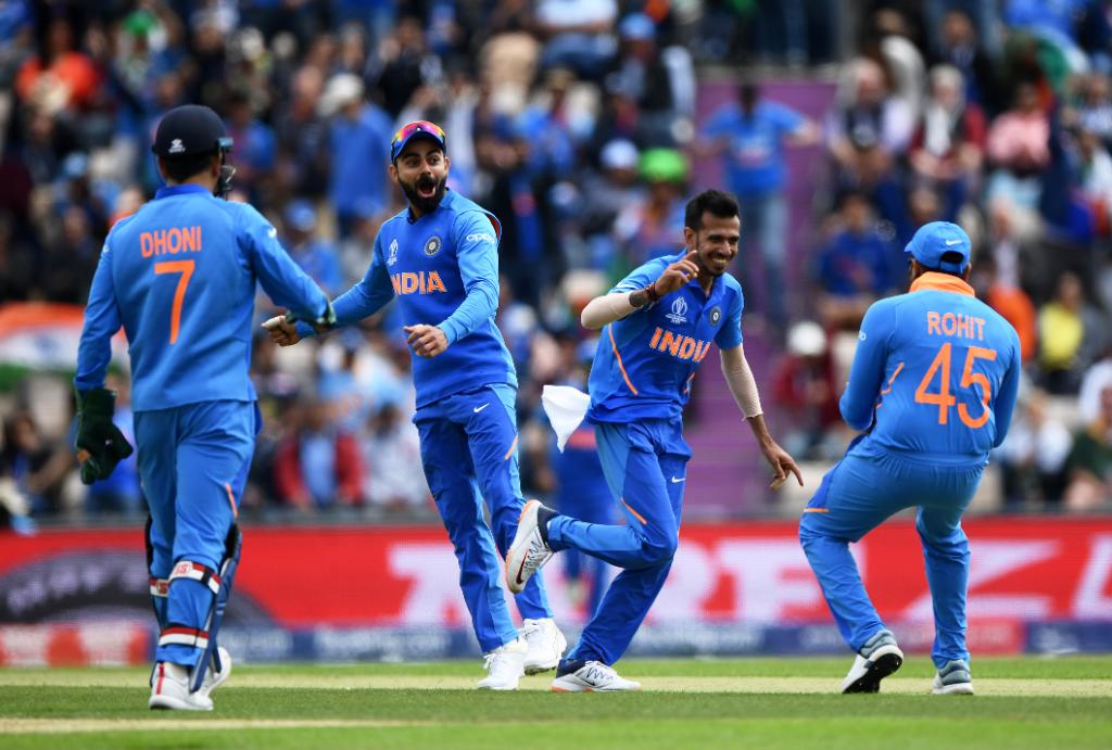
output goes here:
[[1020, 383], [1015, 329], [954, 276], [927, 272], [874, 302], [861, 324], [841, 409], [870, 433], [856, 452], [985, 462], [1012, 421]]

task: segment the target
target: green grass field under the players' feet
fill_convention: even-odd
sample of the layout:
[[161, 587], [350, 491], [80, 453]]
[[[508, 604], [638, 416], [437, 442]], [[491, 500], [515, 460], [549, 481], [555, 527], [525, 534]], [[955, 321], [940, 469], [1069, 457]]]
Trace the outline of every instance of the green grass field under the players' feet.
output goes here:
[[848, 659], [627, 660], [644, 690], [471, 689], [478, 662], [236, 668], [212, 713], [151, 712], [139, 669], [0, 670], [0, 748], [1112, 748], [1112, 657], [979, 659], [931, 696], [912, 657], [880, 696]]

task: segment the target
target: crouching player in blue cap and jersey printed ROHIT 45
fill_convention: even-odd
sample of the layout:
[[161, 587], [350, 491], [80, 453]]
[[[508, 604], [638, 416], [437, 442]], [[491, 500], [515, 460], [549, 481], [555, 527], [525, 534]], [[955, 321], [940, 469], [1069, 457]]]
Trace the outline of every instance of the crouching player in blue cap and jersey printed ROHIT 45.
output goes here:
[[903, 663], [847, 548], [916, 508], [934, 600], [935, 694], [972, 693], [965, 647], [970, 548], [961, 519], [989, 451], [1007, 434], [1020, 382], [1015, 329], [969, 286], [970, 238], [935, 221], [905, 249], [911, 291], [873, 303], [842, 416], [865, 430], [803, 511], [800, 540], [842, 637], [857, 652], [842, 692], [877, 692]]

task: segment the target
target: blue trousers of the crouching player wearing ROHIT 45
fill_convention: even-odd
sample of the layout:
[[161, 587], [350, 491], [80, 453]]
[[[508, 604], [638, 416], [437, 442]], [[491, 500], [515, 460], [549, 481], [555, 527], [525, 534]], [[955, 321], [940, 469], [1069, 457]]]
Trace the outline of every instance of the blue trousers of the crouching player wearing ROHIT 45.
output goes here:
[[984, 464], [954, 457], [912, 457], [851, 446], [824, 478], [800, 522], [800, 541], [842, 637], [854, 651], [884, 628], [870, 601], [848, 543], [885, 519], [917, 507], [926, 579], [934, 602], [932, 658], [937, 667], [969, 661], [965, 590], [970, 546], [962, 513], [981, 481]]

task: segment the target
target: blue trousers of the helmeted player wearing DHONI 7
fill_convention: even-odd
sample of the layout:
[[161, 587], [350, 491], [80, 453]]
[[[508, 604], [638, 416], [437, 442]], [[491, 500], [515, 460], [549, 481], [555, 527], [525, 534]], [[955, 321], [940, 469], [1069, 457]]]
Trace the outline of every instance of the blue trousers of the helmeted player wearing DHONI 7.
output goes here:
[[[182, 560], [219, 570], [260, 427], [254, 401], [201, 401], [135, 413], [139, 479], [151, 518], [151, 578], [169, 578]], [[200, 581], [176, 578], [166, 619], [202, 630], [212, 601], [212, 591]], [[192, 667], [199, 656], [196, 646], [169, 643], [158, 647], [155, 660]]]

